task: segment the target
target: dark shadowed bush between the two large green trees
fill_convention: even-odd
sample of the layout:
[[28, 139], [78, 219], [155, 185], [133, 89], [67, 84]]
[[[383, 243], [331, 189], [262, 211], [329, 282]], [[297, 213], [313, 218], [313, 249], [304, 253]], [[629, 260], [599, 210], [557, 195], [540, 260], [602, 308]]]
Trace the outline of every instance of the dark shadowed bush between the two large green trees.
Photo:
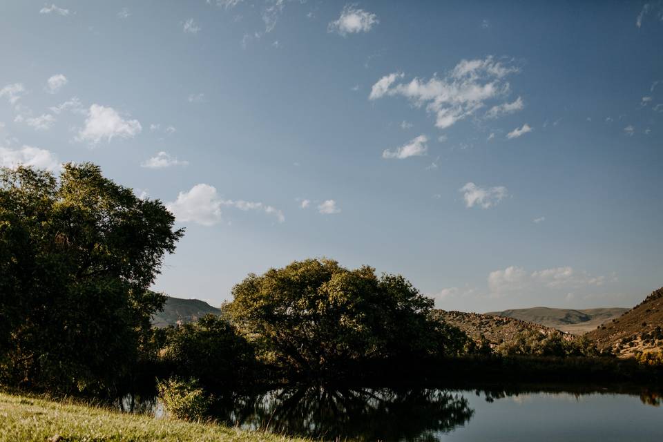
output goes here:
[[162, 330], [162, 363], [169, 374], [197, 378], [208, 391], [238, 390], [253, 381], [253, 347], [227, 320], [207, 315], [198, 323]]

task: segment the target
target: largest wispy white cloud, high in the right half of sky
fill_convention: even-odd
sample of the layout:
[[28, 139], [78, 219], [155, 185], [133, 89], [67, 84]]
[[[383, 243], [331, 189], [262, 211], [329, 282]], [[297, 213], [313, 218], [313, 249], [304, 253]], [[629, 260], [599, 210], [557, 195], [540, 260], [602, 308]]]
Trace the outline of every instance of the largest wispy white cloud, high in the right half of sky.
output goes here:
[[[462, 60], [445, 77], [434, 75], [428, 80], [414, 78], [410, 82], [396, 84], [403, 73], [382, 77], [373, 85], [369, 99], [400, 95], [416, 107], [425, 105], [426, 111], [435, 115], [435, 126], [448, 128], [473, 115], [488, 101], [506, 97], [509, 84], [504, 78], [519, 72], [515, 66], [505, 66], [493, 57]], [[519, 102], [509, 104], [519, 106]]]

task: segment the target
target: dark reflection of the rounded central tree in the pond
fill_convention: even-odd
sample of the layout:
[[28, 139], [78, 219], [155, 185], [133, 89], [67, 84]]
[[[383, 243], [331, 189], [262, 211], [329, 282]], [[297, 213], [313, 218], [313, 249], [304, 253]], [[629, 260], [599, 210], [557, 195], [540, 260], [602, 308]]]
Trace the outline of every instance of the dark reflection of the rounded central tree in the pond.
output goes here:
[[217, 419], [251, 429], [325, 439], [436, 441], [470, 420], [459, 393], [309, 387], [219, 403]]

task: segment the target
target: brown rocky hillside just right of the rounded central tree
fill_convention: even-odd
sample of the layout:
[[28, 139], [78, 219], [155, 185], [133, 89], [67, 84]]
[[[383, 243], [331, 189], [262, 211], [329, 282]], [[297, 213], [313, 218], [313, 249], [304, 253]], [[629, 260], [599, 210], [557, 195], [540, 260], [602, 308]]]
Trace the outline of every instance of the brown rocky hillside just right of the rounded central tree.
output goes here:
[[[553, 327], [529, 323], [524, 320], [509, 318], [507, 316], [494, 316], [490, 314], [465, 313], [465, 311], [436, 310], [434, 315], [463, 330], [470, 338], [478, 340], [483, 335], [492, 345], [502, 342], [511, 342], [522, 332], [535, 330], [542, 334], [559, 332]], [[572, 335], [566, 335], [569, 340]]]

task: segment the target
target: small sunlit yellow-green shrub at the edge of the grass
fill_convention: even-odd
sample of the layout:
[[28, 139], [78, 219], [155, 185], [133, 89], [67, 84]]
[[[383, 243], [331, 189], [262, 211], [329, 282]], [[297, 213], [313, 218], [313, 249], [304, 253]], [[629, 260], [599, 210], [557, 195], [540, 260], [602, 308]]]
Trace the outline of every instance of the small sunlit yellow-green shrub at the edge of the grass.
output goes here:
[[166, 413], [177, 419], [200, 421], [212, 403], [209, 394], [199, 386], [195, 378], [169, 378], [158, 383], [157, 389]]

